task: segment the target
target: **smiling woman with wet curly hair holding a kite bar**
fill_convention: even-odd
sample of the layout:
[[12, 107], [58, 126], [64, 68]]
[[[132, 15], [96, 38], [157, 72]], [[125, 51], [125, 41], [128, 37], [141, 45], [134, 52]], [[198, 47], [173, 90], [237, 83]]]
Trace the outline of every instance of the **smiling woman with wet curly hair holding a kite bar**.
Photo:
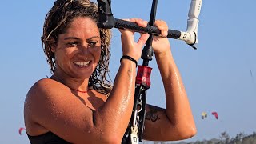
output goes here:
[[[99, 29], [98, 7], [87, 0], [57, 0], [46, 15], [42, 42], [53, 75], [32, 86], [24, 117], [32, 144], [121, 143], [134, 104], [136, 61], [149, 34], [134, 42], [134, 32], [120, 30], [122, 54], [114, 85], [109, 72], [110, 30]], [[131, 18], [138, 26], [147, 22]], [[168, 26], [155, 26], [166, 37]], [[166, 109], [146, 106], [143, 138], [171, 141], [196, 133], [182, 79], [167, 38], [155, 37], [153, 50], [166, 91]], [[154, 116], [156, 119], [152, 119]]]

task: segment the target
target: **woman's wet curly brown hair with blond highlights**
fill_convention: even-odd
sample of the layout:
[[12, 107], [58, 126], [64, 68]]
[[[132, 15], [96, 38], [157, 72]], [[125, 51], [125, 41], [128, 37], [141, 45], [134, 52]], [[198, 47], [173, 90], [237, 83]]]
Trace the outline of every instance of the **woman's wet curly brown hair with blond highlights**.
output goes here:
[[[46, 60], [50, 65], [50, 72], [54, 74], [55, 57], [50, 47], [58, 42], [58, 35], [64, 34], [74, 18], [87, 17], [98, 22], [98, 5], [89, 0], [56, 0], [54, 6], [46, 14], [43, 25], [42, 47]], [[109, 77], [110, 38], [109, 29], [99, 29], [102, 43], [101, 57], [98, 66], [89, 78], [89, 86], [102, 94], [109, 94], [112, 89]], [[110, 78], [110, 77], [109, 77]]]

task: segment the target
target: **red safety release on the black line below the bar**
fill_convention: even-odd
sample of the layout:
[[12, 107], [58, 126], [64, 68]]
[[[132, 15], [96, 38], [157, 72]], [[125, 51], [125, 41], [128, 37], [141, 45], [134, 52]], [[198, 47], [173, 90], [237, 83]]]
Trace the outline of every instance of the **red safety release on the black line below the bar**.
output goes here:
[[151, 70], [149, 66], [138, 66], [136, 85], [146, 86], [146, 89], [149, 89]]

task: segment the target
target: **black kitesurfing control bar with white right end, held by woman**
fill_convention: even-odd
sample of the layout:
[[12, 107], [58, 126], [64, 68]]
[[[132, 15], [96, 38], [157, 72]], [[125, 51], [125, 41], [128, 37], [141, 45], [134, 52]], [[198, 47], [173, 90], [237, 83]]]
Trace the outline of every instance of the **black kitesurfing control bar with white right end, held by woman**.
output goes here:
[[[114, 27], [118, 29], [134, 30], [140, 33], [148, 33], [158, 36], [161, 35], [161, 31], [158, 30], [156, 26], [142, 27], [138, 26], [134, 22], [128, 22], [122, 19], [114, 18], [111, 12], [110, 0], [98, 0], [98, 6], [98, 27], [105, 29], [111, 29]], [[191, 0], [186, 31], [168, 30], [167, 38], [174, 38], [185, 41], [188, 45], [195, 49], [193, 45], [198, 43], [198, 16], [200, 14], [201, 6], [202, 0]]]

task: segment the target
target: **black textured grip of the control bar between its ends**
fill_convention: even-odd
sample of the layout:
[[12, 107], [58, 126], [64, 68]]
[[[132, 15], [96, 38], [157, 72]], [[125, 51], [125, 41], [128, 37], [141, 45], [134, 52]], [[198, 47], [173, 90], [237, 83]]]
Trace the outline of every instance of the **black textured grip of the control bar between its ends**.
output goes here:
[[[118, 29], [128, 29], [128, 30], [134, 30], [136, 32], [140, 32], [140, 33], [148, 33], [148, 34], [154, 34], [154, 35], [160, 35], [161, 32], [160, 30], [158, 30], [158, 28], [156, 26], [146, 26], [146, 27], [142, 27], [142, 26], [138, 26], [136, 23], [134, 22], [129, 22], [129, 21], [125, 21], [122, 19], [118, 19], [115, 18], [115, 28]], [[168, 30], [168, 35], [167, 38], [174, 38], [174, 39], [178, 39], [181, 36], [181, 32], [178, 30]]]

